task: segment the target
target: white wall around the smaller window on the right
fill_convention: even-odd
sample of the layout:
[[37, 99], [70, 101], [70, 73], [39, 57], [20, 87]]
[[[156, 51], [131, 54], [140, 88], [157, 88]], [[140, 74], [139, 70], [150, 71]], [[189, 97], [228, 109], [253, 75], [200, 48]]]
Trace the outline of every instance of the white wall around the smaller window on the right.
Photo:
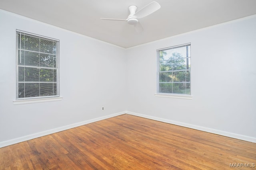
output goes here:
[[[185, 43], [191, 43], [193, 99], [154, 96], [156, 50]], [[131, 114], [256, 142], [256, 16], [130, 48], [126, 55]]]

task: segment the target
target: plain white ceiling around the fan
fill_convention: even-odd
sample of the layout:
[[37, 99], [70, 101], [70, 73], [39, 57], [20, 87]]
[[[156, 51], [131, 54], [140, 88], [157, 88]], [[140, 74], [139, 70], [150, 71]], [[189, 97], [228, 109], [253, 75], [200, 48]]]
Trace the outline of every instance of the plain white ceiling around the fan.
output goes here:
[[160, 10], [139, 19], [144, 30], [100, 18], [126, 19], [153, 0], [0, 0], [0, 8], [128, 48], [256, 14], [256, 0], [155, 0]]

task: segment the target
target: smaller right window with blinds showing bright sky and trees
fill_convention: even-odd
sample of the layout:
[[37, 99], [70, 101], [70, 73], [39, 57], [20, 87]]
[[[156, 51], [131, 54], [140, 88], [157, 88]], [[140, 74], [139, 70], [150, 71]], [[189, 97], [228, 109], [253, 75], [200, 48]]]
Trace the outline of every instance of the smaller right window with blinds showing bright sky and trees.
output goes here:
[[190, 44], [157, 50], [158, 94], [191, 95]]

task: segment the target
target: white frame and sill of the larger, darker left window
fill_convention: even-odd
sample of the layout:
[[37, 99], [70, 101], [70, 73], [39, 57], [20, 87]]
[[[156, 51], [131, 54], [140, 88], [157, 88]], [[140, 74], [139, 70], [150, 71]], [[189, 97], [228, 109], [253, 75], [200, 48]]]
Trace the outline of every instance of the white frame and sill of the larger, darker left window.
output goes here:
[[[21, 54], [21, 51], [25, 51], [24, 49], [22, 50], [21, 48], [18, 49], [18, 46], [20, 43], [20, 42], [18, 42], [18, 36], [21, 34], [28, 35], [28, 36], [31, 36], [34, 38], [38, 38], [38, 40], [40, 38], [46, 39], [46, 40], [52, 40], [53, 43], [56, 43], [56, 62], [53, 63], [52, 68], [50, 68], [50, 67], [47, 68], [46, 66], [26, 66], [26, 65], [22, 66], [19, 64], [19, 57], [20, 57], [19, 54]], [[20, 53], [19, 53], [19, 51], [20, 51]], [[39, 48], [34, 51], [31, 51], [31, 52], [43, 54], [43, 52], [39, 51]], [[48, 53], [48, 54], [50, 55], [50, 53]], [[56, 64], [56, 65], [54, 65], [54, 64]], [[24, 68], [28, 67], [28, 69], [29, 68], [30, 69], [38, 68], [38, 69], [43, 69], [43, 70], [52, 70], [53, 72], [56, 72], [56, 78], [54, 76], [55, 75], [54, 73], [53, 73], [54, 74], [53, 76], [50, 76], [52, 78], [52, 83], [53, 84], [56, 83], [56, 94], [52, 94], [52, 95], [48, 95], [48, 96], [38, 95], [38, 96], [33, 96], [33, 97], [26, 97], [26, 96], [19, 97], [19, 67], [20, 66], [22, 66]], [[14, 104], [26, 104], [26, 103], [37, 103], [37, 102], [48, 102], [48, 101], [62, 100], [62, 97], [60, 97], [60, 71], [59, 71], [59, 69], [60, 69], [60, 40], [16, 29], [16, 99], [13, 101]], [[40, 82], [43, 82], [43, 81], [37, 80], [35, 82], [38, 82], [38, 84], [40, 84]], [[33, 84], [35, 82], [31, 82], [31, 83]], [[27, 82], [27, 84], [28, 83], [29, 82]], [[25, 79], [24, 79], [24, 84], [26, 84]]]

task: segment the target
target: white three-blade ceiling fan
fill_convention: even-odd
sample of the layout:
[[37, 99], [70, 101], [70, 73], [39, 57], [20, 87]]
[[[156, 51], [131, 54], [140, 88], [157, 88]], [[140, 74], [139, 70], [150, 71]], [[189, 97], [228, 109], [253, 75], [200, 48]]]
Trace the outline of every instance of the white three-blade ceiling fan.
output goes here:
[[156, 12], [161, 8], [160, 4], [153, 1], [149, 3], [148, 5], [144, 6], [140, 10], [137, 10], [137, 6], [131, 5], [128, 7], [130, 11], [130, 15], [127, 17], [127, 19], [112, 19], [112, 18], [100, 18], [102, 20], [112, 20], [112, 21], [127, 21], [130, 25], [134, 25], [137, 32], [141, 32], [143, 30], [142, 26], [140, 25], [139, 18], [144, 18], [153, 12]]

